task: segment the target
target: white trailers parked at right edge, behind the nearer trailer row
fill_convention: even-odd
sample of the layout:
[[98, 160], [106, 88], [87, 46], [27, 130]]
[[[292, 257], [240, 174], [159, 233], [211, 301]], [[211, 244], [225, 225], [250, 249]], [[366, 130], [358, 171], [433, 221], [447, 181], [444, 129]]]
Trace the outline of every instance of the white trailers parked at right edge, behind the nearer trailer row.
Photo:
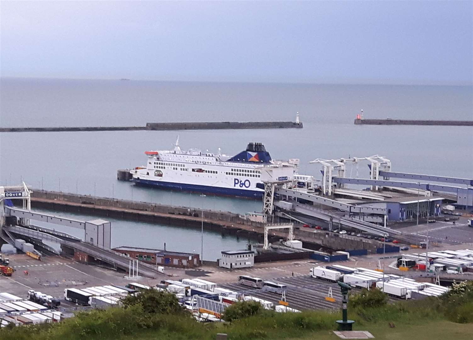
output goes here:
[[441, 270], [473, 271], [473, 250], [441, 250], [429, 253], [404, 254], [402, 259], [414, 260], [417, 263], [434, 265]]

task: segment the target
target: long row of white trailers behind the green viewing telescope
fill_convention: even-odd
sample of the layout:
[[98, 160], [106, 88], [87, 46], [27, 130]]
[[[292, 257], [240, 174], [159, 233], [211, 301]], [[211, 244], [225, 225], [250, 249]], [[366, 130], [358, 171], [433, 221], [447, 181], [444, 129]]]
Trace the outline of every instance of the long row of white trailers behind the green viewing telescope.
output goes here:
[[341, 265], [314, 267], [310, 276], [329, 281], [342, 281], [357, 288], [379, 288], [386, 294], [400, 298], [422, 298], [425, 296], [440, 296], [449, 288], [428, 282], [417, 282], [414, 279], [394, 274], [383, 274], [367, 268], [350, 268]]

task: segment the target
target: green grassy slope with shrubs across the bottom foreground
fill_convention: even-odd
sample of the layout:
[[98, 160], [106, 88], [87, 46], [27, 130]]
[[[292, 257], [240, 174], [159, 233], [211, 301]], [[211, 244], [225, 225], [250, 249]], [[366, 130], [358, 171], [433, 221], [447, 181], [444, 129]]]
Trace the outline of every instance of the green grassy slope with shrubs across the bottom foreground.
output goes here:
[[[378, 292], [366, 293], [348, 316], [355, 320], [354, 330], [370, 331], [376, 339], [472, 339], [473, 282], [460, 288], [441, 298], [380, 305], [372, 303]], [[341, 312], [260, 309], [254, 314], [241, 305], [242, 313], [234, 313], [232, 322], [198, 323], [171, 300], [167, 293], [148, 291], [126, 300], [126, 308], [79, 312], [61, 323], [4, 328], [0, 340], [213, 340], [219, 332], [227, 333], [229, 340], [338, 339], [333, 330]], [[245, 317], [250, 312], [253, 315]]]

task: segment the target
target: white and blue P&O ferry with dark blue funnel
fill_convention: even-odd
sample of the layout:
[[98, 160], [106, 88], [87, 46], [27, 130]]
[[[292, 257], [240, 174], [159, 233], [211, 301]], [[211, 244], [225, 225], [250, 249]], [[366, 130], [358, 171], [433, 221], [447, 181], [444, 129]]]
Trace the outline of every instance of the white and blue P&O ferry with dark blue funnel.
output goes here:
[[[208, 150], [205, 153], [198, 149], [182, 150], [177, 138], [174, 150], [146, 151], [145, 155], [147, 165], [130, 171], [137, 185], [254, 199], [263, 197], [263, 166], [282, 163], [273, 161], [264, 145], [256, 142], [228, 157], [220, 153], [220, 148], [217, 155]], [[295, 174], [298, 161], [289, 160]], [[295, 178], [305, 187], [312, 185], [312, 176]]]

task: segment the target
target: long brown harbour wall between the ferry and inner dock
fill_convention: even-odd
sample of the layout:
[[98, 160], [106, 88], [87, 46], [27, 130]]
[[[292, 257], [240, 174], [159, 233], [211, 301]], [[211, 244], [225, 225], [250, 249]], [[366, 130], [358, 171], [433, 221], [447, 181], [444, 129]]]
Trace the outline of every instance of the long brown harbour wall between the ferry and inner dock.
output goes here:
[[[222, 235], [235, 235], [263, 242], [264, 224], [245, 220], [240, 215], [228, 211], [201, 210], [187, 207], [118, 200], [91, 195], [79, 195], [66, 192], [33, 190], [32, 207], [53, 209], [56, 211], [90, 214], [104, 218], [120, 218], [149, 223], [163, 223], [179, 227], [204, 228], [220, 232]], [[275, 220], [274, 222], [278, 222]], [[272, 231], [270, 242], [286, 238], [285, 232]], [[296, 239], [304, 247], [314, 250], [367, 249], [376, 253], [378, 241], [360, 239], [349, 235], [335, 235], [323, 231], [305, 229], [294, 230]], [[381, 245], [382, 246], [382, 245]]]

